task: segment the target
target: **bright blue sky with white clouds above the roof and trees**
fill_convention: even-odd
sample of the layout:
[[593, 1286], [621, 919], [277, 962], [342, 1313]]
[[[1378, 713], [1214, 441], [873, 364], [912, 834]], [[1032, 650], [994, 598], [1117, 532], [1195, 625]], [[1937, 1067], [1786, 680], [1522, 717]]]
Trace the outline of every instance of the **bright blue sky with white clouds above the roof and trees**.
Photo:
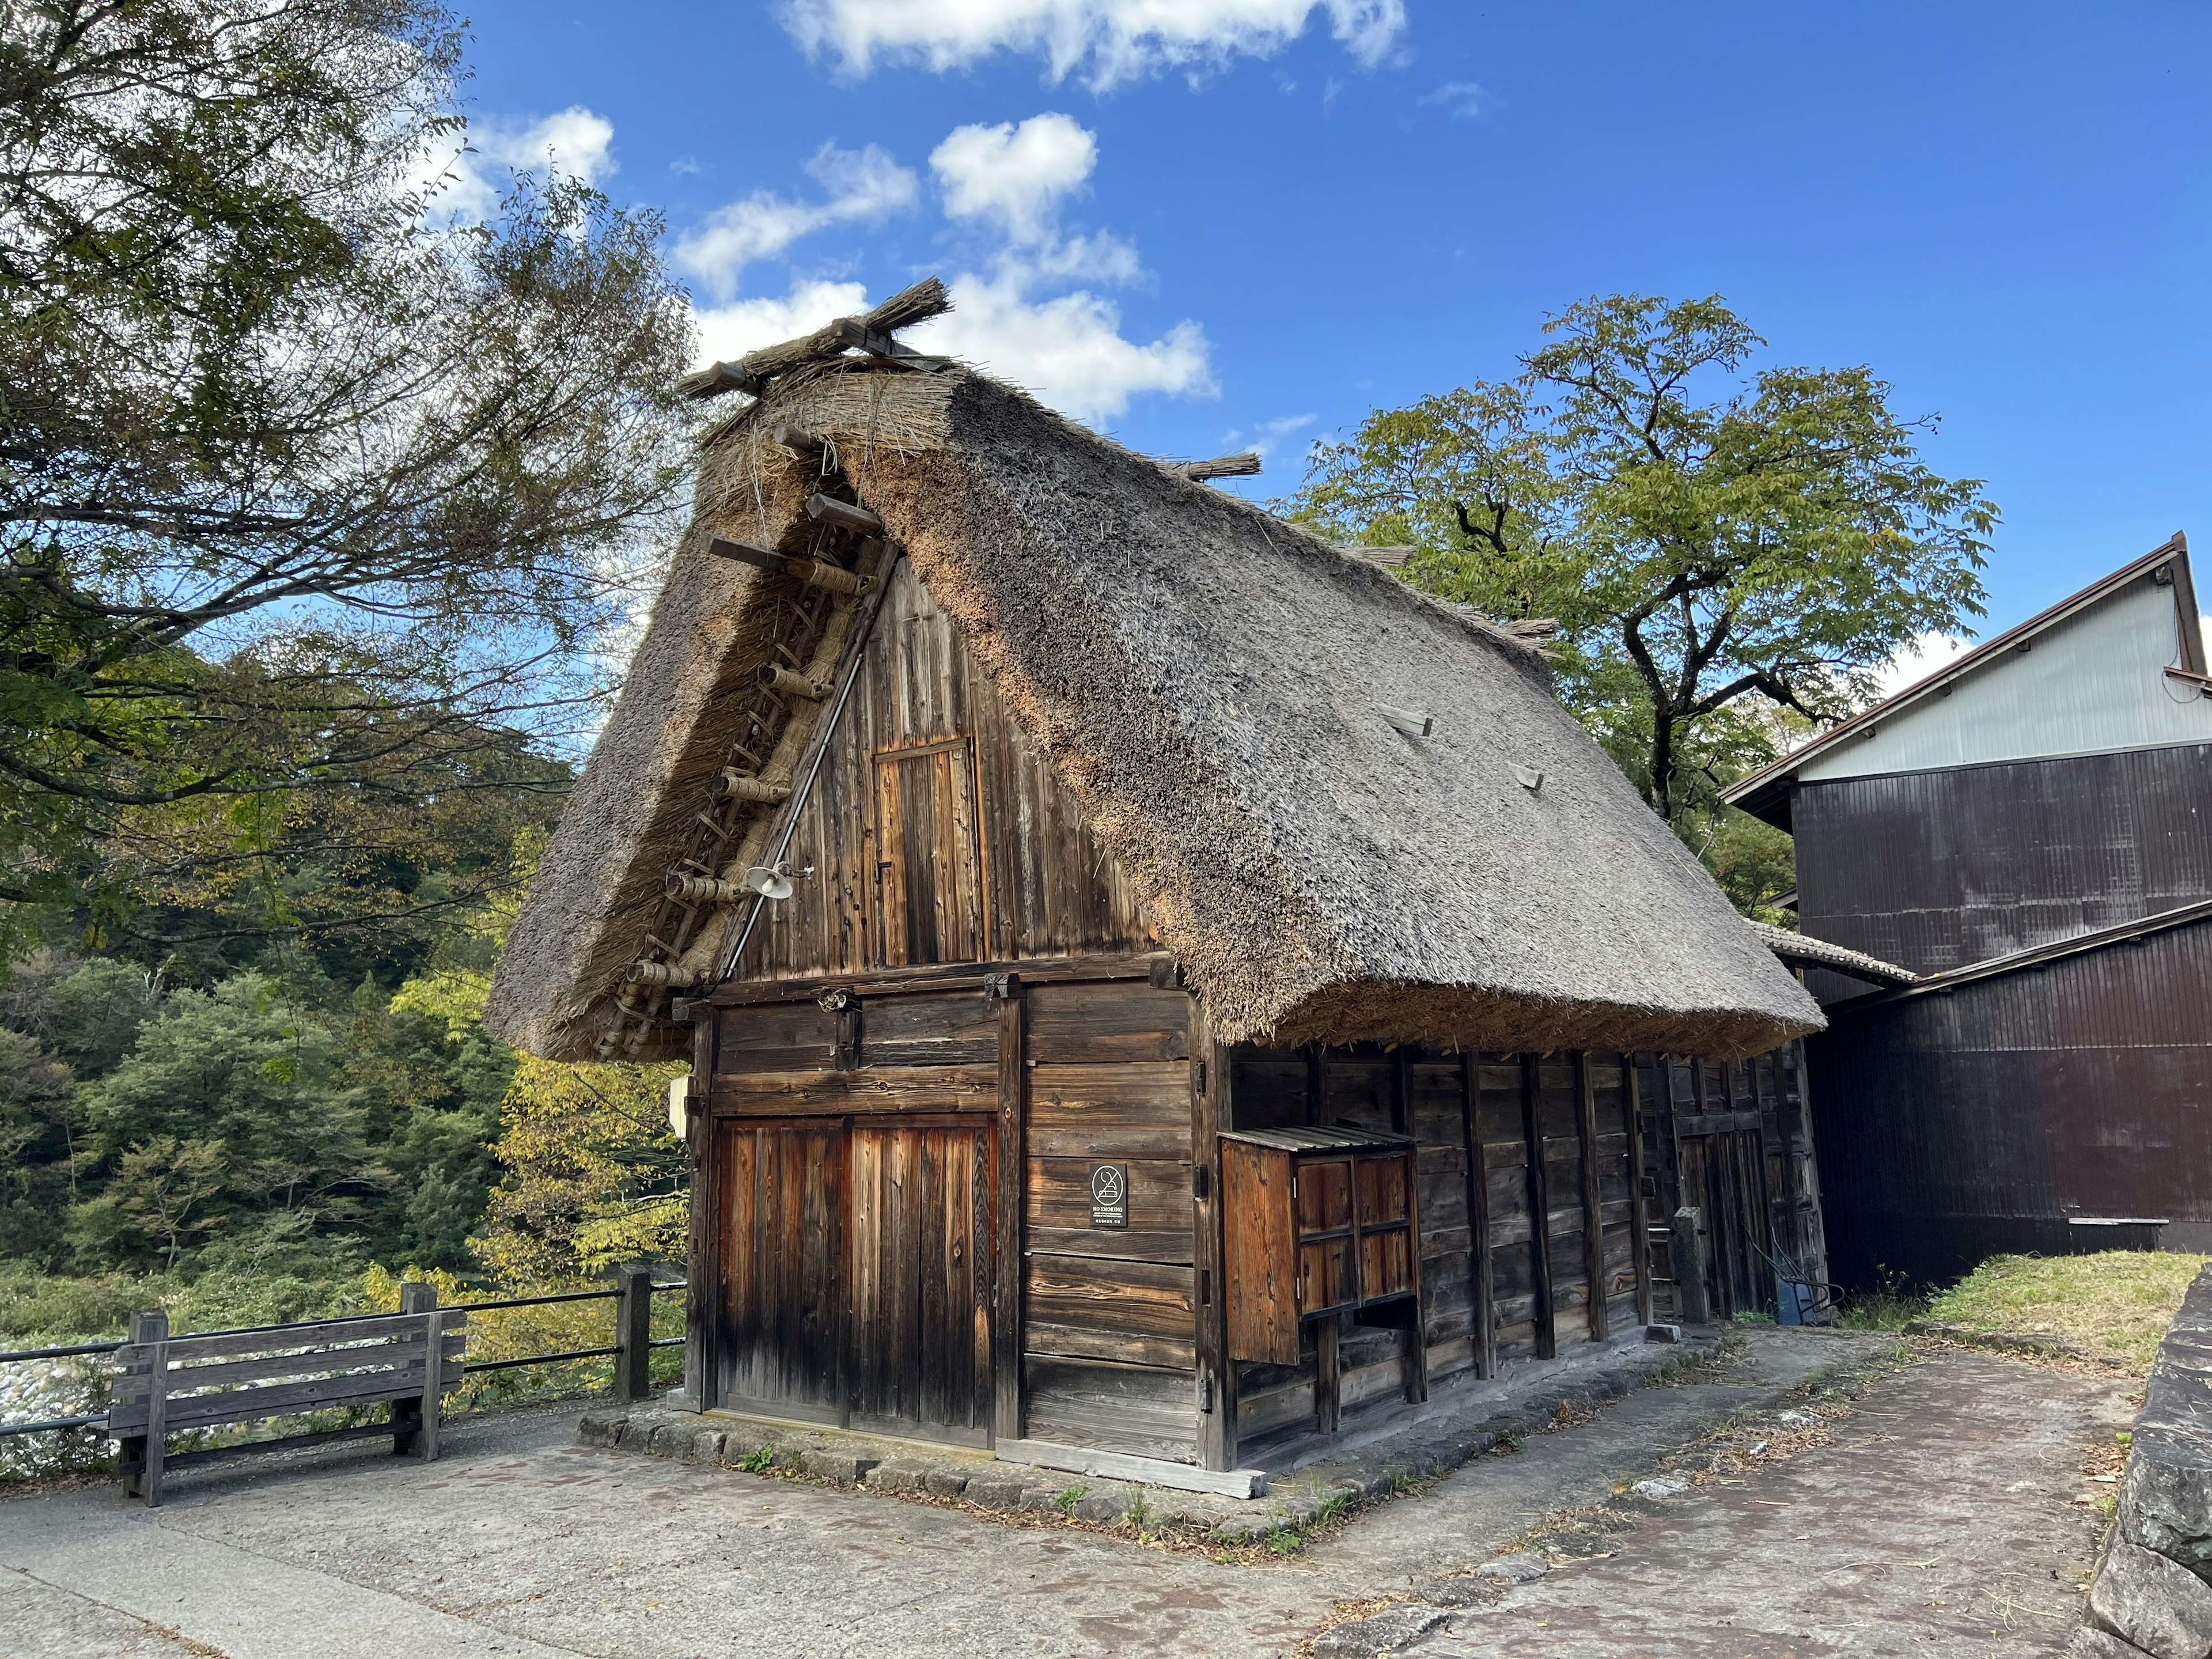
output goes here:
[[[1172, 18], [1175, 38], [1146, 33]], [[1546, 312], [1719, 292], [2004, 509], [1986, 633], [2212, 549], [2212, 9], [794, 0], [471, 11], [480, 157], [661, 208], [714, 356], [920, 274], [940, 343], [1283, 493]], [[1037, 119], [1048, 117], [1048, 119]], [[967, 128], [967, 131], [962, 131]]]

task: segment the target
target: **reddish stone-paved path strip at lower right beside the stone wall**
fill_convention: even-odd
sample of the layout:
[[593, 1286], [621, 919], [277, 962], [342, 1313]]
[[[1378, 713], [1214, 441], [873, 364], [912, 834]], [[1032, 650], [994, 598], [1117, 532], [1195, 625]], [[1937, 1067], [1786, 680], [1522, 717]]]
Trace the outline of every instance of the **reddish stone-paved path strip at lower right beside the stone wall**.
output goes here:
[[[1944, 1354], [1874, 1389], [1836, 1444], [1666, 1500], [1420, 1644], [1544, 1659], [2055, 1655], [2104, 1517], [2073, 1500], [2128, 1387]], [[2110, 1491], [2104, 1486], [2101, 1491]]]

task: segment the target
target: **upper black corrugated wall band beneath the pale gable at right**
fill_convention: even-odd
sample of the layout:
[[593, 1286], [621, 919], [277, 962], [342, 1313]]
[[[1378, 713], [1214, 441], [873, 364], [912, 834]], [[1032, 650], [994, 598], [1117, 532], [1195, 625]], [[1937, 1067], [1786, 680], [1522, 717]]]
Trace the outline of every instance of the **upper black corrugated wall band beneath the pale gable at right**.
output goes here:
[[1794, 823], [1801, 927], [1940, 973], [2212, 898], [2212, 745], [1805, 783]]

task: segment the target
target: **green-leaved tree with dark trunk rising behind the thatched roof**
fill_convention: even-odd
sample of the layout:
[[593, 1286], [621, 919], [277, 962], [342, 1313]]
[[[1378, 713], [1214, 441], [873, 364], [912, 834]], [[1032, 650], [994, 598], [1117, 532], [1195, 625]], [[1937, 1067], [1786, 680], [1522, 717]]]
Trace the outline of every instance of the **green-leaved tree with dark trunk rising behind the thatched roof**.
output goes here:
[[1677, 830], [1905, 641], [1982, 615], [1997, 509], [1920, 458], [1933, 418], [1871, 369], [1752, 369], [1765, 341], [1719, 299], [1588, 299], [1544, 334], [1509, 383], [1316, 445], [1290, 509], [1555, 619], [1562, 697]]

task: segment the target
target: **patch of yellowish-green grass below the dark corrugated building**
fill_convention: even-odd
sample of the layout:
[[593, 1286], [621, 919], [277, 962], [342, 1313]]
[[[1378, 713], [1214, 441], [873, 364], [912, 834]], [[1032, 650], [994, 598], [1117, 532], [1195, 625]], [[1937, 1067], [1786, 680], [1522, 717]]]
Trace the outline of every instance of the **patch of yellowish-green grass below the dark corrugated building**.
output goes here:
[[1991, 1256], [1940, 1292], [1927, 1316], [2011, 1336], [2057, 1336], [2141, 1376], [2205, 1261], [2212, 1259], [2152, 1250]]

